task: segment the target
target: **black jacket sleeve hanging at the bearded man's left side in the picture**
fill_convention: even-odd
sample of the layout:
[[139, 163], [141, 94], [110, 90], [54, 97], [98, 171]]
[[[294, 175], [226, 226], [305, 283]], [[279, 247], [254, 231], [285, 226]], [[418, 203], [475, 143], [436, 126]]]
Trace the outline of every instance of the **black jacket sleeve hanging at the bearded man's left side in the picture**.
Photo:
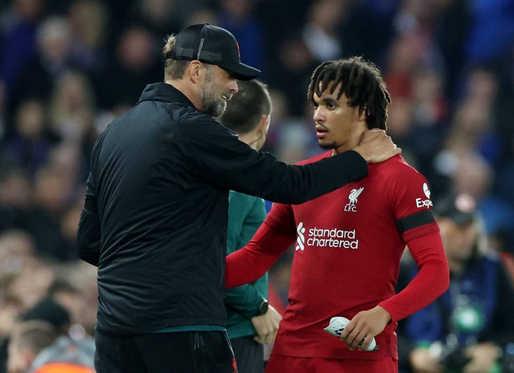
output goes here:
[[100, 260], [100, 220], [95, 195], [93, 175], [87, 178], [86, 200], [80, 214], [77, 231], [77, 254], [82, 260], [98, 267]]

